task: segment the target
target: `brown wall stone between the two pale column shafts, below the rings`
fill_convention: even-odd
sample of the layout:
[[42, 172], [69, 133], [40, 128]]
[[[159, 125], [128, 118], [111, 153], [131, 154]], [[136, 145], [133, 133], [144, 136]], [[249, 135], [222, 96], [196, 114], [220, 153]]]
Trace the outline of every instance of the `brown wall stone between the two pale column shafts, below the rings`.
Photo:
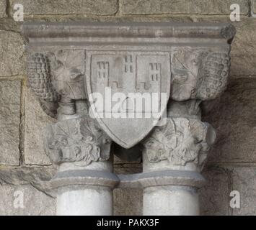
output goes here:
[[142, 189], [115, 189], [114, 190], [114, 215], [116, 216], [141, 216], [142, 215]]

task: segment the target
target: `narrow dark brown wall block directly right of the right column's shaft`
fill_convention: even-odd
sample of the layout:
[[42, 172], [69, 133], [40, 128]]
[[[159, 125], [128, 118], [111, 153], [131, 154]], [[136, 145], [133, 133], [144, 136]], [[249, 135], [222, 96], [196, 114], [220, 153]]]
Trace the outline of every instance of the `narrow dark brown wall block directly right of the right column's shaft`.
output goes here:
[[229, 171], [221, 167], [208, 167], [203, 171], [206, 185], [200, 188], [201, 215], [229, 215]]

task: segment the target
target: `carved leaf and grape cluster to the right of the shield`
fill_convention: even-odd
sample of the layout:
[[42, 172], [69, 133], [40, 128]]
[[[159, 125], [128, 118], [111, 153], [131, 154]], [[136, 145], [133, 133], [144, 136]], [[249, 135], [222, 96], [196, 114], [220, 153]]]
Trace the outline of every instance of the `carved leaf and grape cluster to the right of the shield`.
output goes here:
[[216, 98], [226, 88], [229, 65], [227, 52], [176, 50], [172, 55], [172, 98]]

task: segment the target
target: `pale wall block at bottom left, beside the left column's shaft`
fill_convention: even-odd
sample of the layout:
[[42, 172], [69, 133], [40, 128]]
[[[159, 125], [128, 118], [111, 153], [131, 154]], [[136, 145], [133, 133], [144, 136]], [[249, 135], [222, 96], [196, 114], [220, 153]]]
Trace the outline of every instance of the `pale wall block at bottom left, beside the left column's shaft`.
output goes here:
[[3, 216], [48, 216], [56, 213], [56, 200], [31, 185], [0, 185], [0, 195], [0, 215]]

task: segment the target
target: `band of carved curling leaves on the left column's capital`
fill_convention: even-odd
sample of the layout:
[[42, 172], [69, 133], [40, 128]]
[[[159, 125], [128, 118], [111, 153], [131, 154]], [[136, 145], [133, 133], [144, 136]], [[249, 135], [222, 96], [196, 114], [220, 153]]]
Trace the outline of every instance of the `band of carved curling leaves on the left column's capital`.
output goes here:
[[58, 121], [45, 129], [45, 152], [56, 163], [108, 160], [111, 141], [89, 117]]

